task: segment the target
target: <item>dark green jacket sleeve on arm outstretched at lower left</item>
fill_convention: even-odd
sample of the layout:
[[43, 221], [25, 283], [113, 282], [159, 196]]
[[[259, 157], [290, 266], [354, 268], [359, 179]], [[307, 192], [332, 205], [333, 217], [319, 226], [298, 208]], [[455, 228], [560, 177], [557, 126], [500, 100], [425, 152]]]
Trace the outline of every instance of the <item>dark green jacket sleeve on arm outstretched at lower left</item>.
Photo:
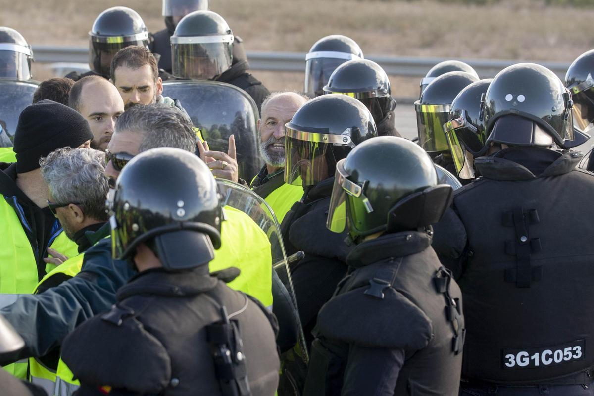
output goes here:
[[14, 356], [2, 356], [0, 365], [31, 356], [43, 356], [75, 327], [97, 313], [109, 311], [117, 290], [136, 273], [125, 261], [114, 261], [111, 238], [100, 240], [85, 252], [78, 275], [41, 294], [21, 296], [0, 310], [25, 347]]

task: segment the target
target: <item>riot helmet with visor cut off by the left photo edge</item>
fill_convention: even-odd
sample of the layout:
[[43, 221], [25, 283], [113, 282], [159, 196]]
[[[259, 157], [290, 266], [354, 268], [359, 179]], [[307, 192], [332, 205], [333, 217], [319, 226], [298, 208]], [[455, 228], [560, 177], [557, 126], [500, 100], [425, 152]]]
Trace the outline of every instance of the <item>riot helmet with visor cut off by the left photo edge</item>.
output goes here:
[[33, 50], [18, 31], [0, 26], [0, 78], [30, 80]]

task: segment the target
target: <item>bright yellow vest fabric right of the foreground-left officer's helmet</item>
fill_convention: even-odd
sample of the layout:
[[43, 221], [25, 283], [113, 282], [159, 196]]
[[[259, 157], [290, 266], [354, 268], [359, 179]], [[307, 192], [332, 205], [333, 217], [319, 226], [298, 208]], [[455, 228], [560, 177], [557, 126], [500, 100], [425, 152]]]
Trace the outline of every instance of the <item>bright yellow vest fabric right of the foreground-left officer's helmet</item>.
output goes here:
[[272, 306], [272, 255], [266, 233], [247, 214], [225, 207], [221, 226], [221, 247], [208, 266], [211, 272], [237, 267], [239, 276], [227, 286], [241, 290]]

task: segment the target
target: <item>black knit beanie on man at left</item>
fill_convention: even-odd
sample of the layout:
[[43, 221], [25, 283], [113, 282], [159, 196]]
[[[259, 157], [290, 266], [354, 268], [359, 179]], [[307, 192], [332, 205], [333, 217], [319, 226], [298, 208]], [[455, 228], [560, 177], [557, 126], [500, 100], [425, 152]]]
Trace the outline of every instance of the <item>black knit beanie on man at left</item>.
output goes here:
[[58, 148], [76, 148], [90, 139], [89, 123], [70, 107], [52, 100], [31, 104], [18, 116], [14, 132], [17, 173], [38, 169], [39, 160]]

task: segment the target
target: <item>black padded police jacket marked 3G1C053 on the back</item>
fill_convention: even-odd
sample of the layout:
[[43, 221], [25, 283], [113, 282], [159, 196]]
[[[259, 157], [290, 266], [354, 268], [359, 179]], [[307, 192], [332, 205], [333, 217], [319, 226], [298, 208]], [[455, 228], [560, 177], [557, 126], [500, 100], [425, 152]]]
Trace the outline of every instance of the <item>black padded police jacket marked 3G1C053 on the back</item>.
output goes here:
[[459, 274], [464, 379], [590, 383], [594, 175], [576, 169], [581, 158], [535, 147], [478, 158], [481, 178], [456, 191], [435, 227], [435, 239], [463, 229], [457, 246], [434, 246]]

